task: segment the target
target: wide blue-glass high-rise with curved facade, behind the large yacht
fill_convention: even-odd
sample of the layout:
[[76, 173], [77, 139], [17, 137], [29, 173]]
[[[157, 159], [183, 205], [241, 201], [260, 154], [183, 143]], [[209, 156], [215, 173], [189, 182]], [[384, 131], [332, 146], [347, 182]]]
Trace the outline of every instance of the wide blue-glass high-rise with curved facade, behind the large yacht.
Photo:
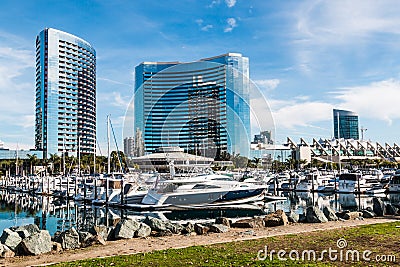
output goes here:
[[228, 53], [192, 63], [135, 68], [135, 129], [145, 152], [179, 146], [216, 157], [250, 150], [249, 61]]

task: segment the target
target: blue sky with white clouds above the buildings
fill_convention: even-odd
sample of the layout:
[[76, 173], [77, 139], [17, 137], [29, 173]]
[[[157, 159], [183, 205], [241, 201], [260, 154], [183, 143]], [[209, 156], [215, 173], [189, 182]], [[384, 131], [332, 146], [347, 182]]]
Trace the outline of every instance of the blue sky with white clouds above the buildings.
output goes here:
[[358, 113], [364, 139], [398, 143], [399, 14], [397, 0], [0, 0], [0, 140], [34, 147], [35, 38], [47, 27], [96, 49], [103, 149], [107, 114], [123, 146], [136, 65], [228, 52], [249, 58], [277, 143], [331, 138], [333, 108]]

